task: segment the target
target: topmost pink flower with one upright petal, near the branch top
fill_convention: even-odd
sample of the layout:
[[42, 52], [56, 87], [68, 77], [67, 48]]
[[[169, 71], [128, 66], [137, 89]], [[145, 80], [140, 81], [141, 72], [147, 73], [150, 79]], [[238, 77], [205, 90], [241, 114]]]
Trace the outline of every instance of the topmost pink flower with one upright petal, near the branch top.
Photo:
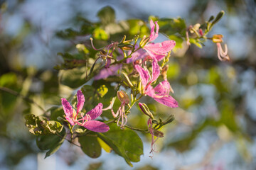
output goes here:
[[[154, 32], [154, 28], [156, 25], [156, 32]], [[151, 33], [149, 37], [149, 42], [155, 40], [158, 37], [159, 33], [159, 25], [157, 22], [153, 22], [152, 20], [150, 21], [150, 28], [151, 28]], [[152, 58], [155, 58], [157, 61], [161, 61], [166, 57], [167, 53], [170, 52], [176, 42], [174, 40], [166, 40], [164, 42], [159, 42], [159, 43], [146, 43], [144, 45], [144, 50], [149, 53], [149, 56]]]

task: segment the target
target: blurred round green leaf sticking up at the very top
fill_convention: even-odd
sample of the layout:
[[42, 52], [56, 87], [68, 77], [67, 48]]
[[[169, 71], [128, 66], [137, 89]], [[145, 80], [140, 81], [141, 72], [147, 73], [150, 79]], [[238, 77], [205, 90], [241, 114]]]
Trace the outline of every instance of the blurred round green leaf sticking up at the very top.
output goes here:
[[115, 22], [115, 13], [114, 9], [110, 6], [106, 6], [102, 8], [98, 13], [97, 17], [100, 18], [100, 21], [102, 22], [103, 25], [107, 25], [109, 23], [114, 23]]

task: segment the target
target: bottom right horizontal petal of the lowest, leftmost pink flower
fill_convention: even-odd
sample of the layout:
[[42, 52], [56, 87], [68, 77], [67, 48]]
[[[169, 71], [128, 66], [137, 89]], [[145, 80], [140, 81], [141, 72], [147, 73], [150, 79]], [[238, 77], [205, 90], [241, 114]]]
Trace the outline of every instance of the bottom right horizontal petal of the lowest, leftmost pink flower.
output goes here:
[[83, 127], [93, 132], [107, 132], [108, 130], [110, 130], [110, 127], [108, 125], [97, 120], [90, 120], [85, 123]]

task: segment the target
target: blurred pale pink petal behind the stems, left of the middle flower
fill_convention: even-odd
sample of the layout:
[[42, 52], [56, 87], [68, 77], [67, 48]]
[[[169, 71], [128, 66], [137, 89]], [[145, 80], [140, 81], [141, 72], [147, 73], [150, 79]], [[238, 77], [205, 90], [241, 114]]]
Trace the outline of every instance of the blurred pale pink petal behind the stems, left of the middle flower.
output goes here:
[[116, 64], [110, 66], [110, 68], [104, 68], [100, 70], [99, 74], [95, 76], [95, 80], [106, 79], [107, 77], [117, 75], [117, 70], [122, 67], [122, 64]]

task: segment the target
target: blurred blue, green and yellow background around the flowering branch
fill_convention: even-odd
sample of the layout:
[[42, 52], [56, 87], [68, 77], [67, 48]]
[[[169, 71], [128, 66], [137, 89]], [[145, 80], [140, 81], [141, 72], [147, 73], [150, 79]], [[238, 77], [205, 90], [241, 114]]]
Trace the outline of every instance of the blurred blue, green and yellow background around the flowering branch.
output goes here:
[[[62, 91], [70, 91], [59, 86], [53, 67], [63, 62], [57, 53], [72, 51], [75, 45], [56, 33], [78, 28], [78, 16], [96, 22], [97, 11], [111, 6], [117, 21], [179, 16], [190, 26], [225, 11], [211, 35], [224, 35], [231, 61], [218, 60], [213, 42], [202, 49], [183, 45], [172, 53], [168, 76], [180, 107], [151, 108], [174, 114], [176, 120], [162, 129], [165, 137], [156, 142], [159, 153], [153, 159], [149, 136], [139, 134], [144, 155], [134, 169], [255, 169], [255, 1], [1, 0], [0, 5], [0, 87], [19, 91], [46, 108], [59, 100]], [[159, 41], [164, 38], [161, 35]], [[114, 153], [91, 159], [68, 142], [43, 159], [23, 119], [27, 108], [34, 114], [42, 111], [28, 105], [0, 91], [0, 169], [131, 169]], [[129, 118], [136, 124], [138, 115]]]

